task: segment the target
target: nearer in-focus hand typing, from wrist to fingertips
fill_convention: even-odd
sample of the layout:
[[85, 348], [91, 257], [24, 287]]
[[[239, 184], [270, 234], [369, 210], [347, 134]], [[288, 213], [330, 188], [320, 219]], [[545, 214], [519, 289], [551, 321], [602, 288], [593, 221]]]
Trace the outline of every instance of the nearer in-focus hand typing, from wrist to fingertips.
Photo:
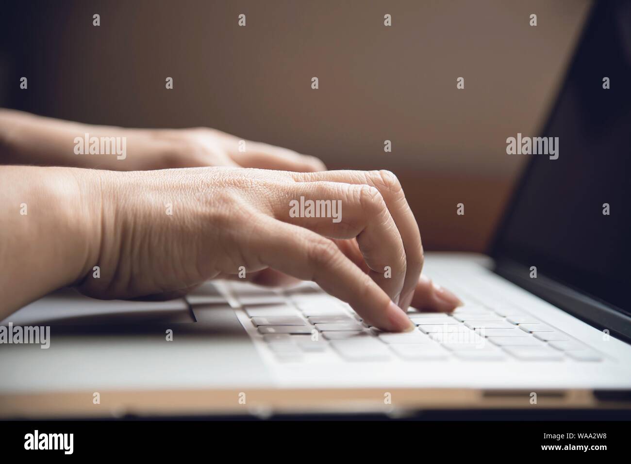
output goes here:
[[[433, 311], [459, 304], [420, 278], [418, 226], [388, 171], [74, 173], [98, 212], [86, 235], [88, 269], [100, 266], [100, 278], [88, 272], [78, 284], [89, 296], [174, 298], [243, 266], [257, 282], [315, 281], [384, 330], [413, 327], [401, 310], [411, 302]], [[340, 200], [339, 222], [291, 217], [300, 197]]]

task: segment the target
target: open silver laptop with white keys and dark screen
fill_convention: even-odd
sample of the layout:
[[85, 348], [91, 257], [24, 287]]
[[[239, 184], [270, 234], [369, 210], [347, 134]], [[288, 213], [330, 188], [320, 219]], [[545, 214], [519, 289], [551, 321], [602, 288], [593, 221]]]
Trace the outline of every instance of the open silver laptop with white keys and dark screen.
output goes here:
[[[0, 325], [0, 416], [628, 409], [631, 9], [599, 3], [488, 255], [427, 253], [464, 305], [384, 333], [311, 282], [206, 282], [165, 302], [63, 289]], [[507, 144], [509, 141], [507, 140]]]

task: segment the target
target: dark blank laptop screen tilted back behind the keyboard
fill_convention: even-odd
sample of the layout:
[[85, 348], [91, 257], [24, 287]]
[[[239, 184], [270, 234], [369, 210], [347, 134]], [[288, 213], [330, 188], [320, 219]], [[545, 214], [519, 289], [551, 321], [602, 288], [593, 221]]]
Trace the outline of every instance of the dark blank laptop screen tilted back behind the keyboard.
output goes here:
[[531, 160], [491, 254], [631, 314], [631, 3], [596, 5], [543, 134], [529, 135], [558, 137], [557, 153], [505, 155]]

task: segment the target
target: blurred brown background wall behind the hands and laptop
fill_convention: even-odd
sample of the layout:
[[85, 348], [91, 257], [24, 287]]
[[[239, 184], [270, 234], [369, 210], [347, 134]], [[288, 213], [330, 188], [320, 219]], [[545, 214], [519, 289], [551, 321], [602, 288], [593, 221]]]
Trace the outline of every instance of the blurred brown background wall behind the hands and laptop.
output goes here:
[[590, 7], [9, 2], [0, 13], [0, 106], [90, 124], [206, 125], [313, 154], [332, 169], [389, 169], [427, 250], [482, 252], [527, 160], [506, 154], [506, 138], [537, 135]]

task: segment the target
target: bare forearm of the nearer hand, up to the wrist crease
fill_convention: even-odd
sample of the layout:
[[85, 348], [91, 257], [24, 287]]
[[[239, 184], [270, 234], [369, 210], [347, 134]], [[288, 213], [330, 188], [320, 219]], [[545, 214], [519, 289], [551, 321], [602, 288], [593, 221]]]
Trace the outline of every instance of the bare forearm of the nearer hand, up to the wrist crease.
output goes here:
[[0, 166], [0, 320], [97, 261], [99, 177], [90, 172]]

